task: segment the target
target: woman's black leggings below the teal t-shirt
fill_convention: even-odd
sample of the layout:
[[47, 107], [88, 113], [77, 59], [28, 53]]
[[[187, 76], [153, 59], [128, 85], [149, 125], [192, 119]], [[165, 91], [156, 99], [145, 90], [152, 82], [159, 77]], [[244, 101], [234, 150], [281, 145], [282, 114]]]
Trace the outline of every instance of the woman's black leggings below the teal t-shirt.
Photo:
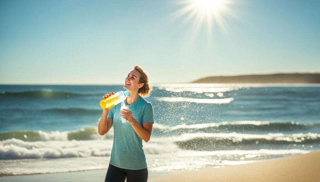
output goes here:
[[140, 170], [122, 169], [109, 163], [106, 179], [104, 182], [147, 182], [148, 168]]

